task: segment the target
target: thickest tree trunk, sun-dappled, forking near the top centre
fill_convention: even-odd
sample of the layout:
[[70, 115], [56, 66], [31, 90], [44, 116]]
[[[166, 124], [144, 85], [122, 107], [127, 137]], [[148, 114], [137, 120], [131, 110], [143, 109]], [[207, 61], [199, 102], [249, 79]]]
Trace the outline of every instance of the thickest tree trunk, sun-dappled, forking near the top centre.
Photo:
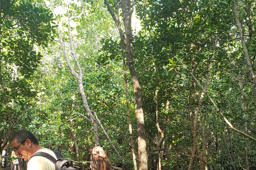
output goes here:
[[[124, 44], [125, 46], [127, 64], [129, 67], [131, 78], [132, 78], [133, 93], [134, 93], [134, 99], [135, 99], [135, 114], [137, 118], [137, 132], [138, 132], [139, 169], [147, 170], [148, 169], [147, 150], [146, 150], [147, 145], [146, 145], [144, 113], [142, 108], [141, 86], [139, 83], [138, 75], [134, 67], [133, 53], [132, 53], [131, 1], [130, 0], [121, 1], [125, 34], [122, 30], [119, 16], [117, 15], [116, 17], [115, 13], [113, 12], [107, 0], [105, 0], [105, 4], [107, 5], [108, 11], [110, 12], [113, 20], [115, 21], [116, 27], [121, 37], [122, 44]], [[116, 13], [118, 14], [118, 9], [116, 10]]]

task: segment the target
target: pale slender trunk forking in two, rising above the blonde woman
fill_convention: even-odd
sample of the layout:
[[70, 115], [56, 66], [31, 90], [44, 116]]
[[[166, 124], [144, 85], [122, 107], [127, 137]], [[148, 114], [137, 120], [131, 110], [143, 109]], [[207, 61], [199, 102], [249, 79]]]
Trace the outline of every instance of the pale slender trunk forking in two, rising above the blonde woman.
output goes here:
[[[53, 7], [52, 0], [51, 0], [51, 8], [52, 8], [53, 14], [55, 14], [54, 13], [54, 7]], [[71, 20], [71, 18], [70, 18], [70, 15], [69, 15], [68, 11], [67, 11], [67, 13], [68, 13], [69, 41], [70, 41], [71, 51], [73, 51], [71, 53], [73, 54], [72, 57], [73, 57], [73, 59], [74, 59], [74, 61], [76, 63], [76, 66], [77, 66], [79, 74], [74, 70], [73, 66], [69, 62], [69, 58], [68, 58], [68, 55], [66, 53], [65, 44], [64, 44], [64, 42], [62, 40], [62, 35], [61, 35], [60, 30], [59, 30], [59, 27], [57, 26], [56, 29], [57, 29], [57, 32], [58, 32], [58, 36], [59, 36], [59, 40], [60, 40], [60, 45], [61, 45], [61, 49], [62, 49], [62, 52], [63, 52], [63, 56], [65, 57], [65, 61], [66, 61], [67, 65], [68, 65], [71, 73], [74, 75], [74, 77], [76, 78], [76, 80], [78, 82], [78, 86], [79, 86], [79, 89], [80, 89], [80, 94], [81, 94], [81, 97], [82, 97], [82, 100], [83, 100], [83, 105], [85, 107], [85, 110], [86, 110], [88, 116], [90, 117], [91, 122], [92, 122], [95, 143], [96, 143], [96, 145], [100, 145], [97, 121], [95, 120], [95, 117], [93, 116], [93, 114], [91, 112], [91, 109], [90, 109], [90, 107], [89, 107], [89, 105], [87, 103], [87, 98], [85, 96], [83, 82], [82, 82], [83, 73], [82, 73], [82, 70], [81, 70], [81, 67], [80, 67], [79, 63], [77, 62], [77, 58], [74, 55], [75, 53], [74, 53], [74, 48], [73, 48], [73, 43], [72, 43], [72, 38], [71, 38], [71, 30], [70, 30], [70, 20]]]

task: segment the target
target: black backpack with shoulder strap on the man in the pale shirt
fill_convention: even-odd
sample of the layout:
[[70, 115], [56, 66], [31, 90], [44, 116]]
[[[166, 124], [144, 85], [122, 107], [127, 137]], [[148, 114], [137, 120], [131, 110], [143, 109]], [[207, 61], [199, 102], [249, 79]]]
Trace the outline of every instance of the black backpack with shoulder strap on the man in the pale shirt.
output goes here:
[[73, 167], [72, 163], [70, 164], [68, 162], [68, 160], [63, 158], [63, 156], [60, 154], [60, 152], [58, 152], [58, 151], [53, 151], [53, 152], [54, 152], [55, 156], [57, 157], [57, 160], [53, 156], [51, 156], [45, 152], [36, 152], [36, 154], [31, 156], [31, 158], [34, 156], [43, 156], [43, 157], [51, 160], [51, 162], [53, 162], [53, 164], [55, 164], [56, 170], [77, 170], [76, 168]]

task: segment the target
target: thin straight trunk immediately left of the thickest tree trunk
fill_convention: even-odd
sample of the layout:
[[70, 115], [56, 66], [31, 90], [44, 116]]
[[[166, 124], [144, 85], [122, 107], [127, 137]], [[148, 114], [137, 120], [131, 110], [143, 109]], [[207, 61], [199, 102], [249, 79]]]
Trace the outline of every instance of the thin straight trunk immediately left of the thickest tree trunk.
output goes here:
[[133, 134], [132, 134], [132, 121], [131, 121], [130, 105], [129, 105], [129, 97], [128, 97], [128, 85], [127, 85], [127, 75], [126, 75], [126, 64], [125, 64], [125, 57], [124, 57], [124, 56], [123, 56], [123, 68], [124, 68], [124, 83], [125, 83], [126, 111], [127, 111], [128, 123], [129, 123], [129, 133], [130, 133], [130, 141], [131, 141], [131, 147], [132, 147], [132, 158], [133, 158], [134, 170], [137, 170], [137, 162], [136, 162], [136, 155], [135, 155], [135, 146], [134, 146]]

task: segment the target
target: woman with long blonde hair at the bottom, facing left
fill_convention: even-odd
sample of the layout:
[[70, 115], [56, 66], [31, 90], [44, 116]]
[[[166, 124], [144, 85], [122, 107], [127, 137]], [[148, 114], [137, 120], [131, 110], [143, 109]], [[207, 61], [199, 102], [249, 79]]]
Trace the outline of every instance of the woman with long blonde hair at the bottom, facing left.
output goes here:
[[110, 170], [110, 163], [105, 151], [99, 147], [95, 146], [92, 150], [93, 162], [92, 166], [95, 167], [96, 170]]

